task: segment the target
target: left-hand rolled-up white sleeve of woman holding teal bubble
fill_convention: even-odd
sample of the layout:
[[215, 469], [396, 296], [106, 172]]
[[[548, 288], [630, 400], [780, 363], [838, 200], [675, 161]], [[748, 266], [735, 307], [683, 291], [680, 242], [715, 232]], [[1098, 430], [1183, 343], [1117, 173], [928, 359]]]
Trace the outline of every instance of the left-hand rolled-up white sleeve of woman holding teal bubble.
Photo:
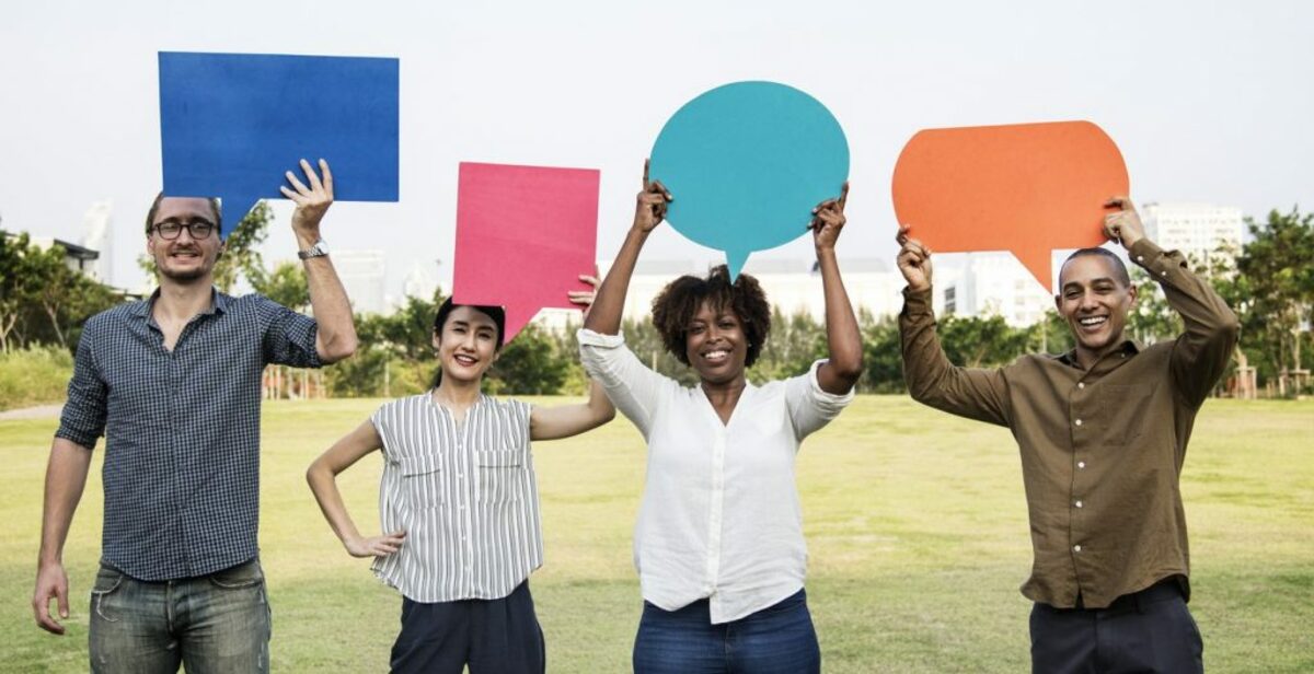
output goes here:
[[579, 360], [585, 372], [602, 384], [611, 403], [648, 438], [662, 395], [679, 385], [639, 361], [622, 335], [579, 330]]

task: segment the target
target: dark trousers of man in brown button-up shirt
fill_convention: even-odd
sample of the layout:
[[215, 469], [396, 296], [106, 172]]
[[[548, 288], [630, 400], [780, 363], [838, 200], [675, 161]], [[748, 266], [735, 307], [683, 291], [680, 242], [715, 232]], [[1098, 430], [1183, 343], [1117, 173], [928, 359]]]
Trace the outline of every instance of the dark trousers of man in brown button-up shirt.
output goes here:
[[1108, 608], [1031, 608], [1034, 674], [1202, 673], [1204, 650], [1171, 578]]

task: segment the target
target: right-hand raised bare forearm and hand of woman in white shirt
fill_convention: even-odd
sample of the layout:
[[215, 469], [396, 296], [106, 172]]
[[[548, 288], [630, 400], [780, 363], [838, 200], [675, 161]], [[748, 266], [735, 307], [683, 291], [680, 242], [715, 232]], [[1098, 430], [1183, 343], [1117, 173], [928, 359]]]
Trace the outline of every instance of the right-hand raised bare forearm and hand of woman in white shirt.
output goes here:
[[817, 369], [817, 384], [827, 393], [844, 394], [853, 389], [862, 376], [862, 335], [853, 303], [844, 289], [840, 263], [834, 256], [834, 243], [848, 219], [844, 208], [849, 202], [849, 183], [845, 181], [840, 198], [830, 198], [812, 209], [812, 243], [821, 267], [821, 288], [825, 292], [825, 336], [829, 359]]

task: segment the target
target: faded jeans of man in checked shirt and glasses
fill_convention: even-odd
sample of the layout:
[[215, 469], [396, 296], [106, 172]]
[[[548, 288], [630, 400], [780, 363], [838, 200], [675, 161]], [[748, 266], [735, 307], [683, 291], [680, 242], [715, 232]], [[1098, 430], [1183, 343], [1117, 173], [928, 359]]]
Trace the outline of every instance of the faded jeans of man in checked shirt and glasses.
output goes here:
[[177, 581], [138, 581], [101, 565], [91, 591], [91, 670], [269, 671], [269, 602], [260, 562]]

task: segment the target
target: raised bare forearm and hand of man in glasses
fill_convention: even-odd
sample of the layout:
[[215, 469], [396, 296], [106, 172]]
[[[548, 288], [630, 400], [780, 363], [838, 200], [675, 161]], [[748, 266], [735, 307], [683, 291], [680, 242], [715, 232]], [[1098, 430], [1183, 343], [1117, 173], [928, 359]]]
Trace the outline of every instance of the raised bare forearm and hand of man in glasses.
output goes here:
[[[288, 171], [288, 183], [280, 188], [283, 194], [297, 204], [292, 213], [292, 231], [297, 236], [297, 247], [306, 250], [319, 240], [319, 221], [323, 219], [328, 206], [332, 205], [332, 172], [328, 163], [319, 160], [319, 171], [323, 172], [323, 181], [315, 175], [310, 163], [301, 160], [301, 169], [306, 175], [310, 187], [306, 187], [297, 176]], [[356, 352], [356, 325], [351, 315], [351, 302], [347, 301], [347, 290], [338, 279], [338, 271], [327, 255], [310, 258], [304, 261], [306, 268], [306, 286], [310, 290], [310, 309], [315, 314], [318, 331], [315, 334], [315, 351], [323, 363], [336, 363]]]

